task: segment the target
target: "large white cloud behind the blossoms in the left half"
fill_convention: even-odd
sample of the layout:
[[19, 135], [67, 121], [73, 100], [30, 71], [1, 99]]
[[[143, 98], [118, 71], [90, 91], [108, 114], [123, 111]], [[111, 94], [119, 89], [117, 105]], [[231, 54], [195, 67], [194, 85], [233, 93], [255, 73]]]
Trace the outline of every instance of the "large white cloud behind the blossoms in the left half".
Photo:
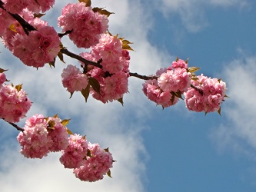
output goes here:
[[[146, 13], [139, 2], [121, 1], [116, 4], [113, 0], [98, 3], [98, 7], [106, 7], [110, 12], [115, 12], [110, 17], [111, 32], [135, 42], [135, 52], [131, 53], [131, 71], [154, 74], [162, 62], [167, 63], [165, 53], [158, 51], [147, 40], [148, 28], [151, 26], [148, 19], [150, 13]], [[60, 12], [58, 8], [64, 4], [57, 1], [55, 10], [43, 19], [53, 18]], [[55, 22], [51, 23], [54, 25]], [[65, 46], [76, 50], [69, 41], [65, 41]], [[45, 116], [58, 113], [60, 118], [72, 118], [69, 125], [73, 126], [69, 127], [72, 131], [86, 134], [88, 141], [98, 142], [101, 147], [109, 147], [117, 161], [111, 170], [112, 179], [105, 178], [94, 184], [87, 184], [62, 167], [58, 162], [58, 154], [49, 155], [42, 160], [28, 160], [18, 153], [17, 145], [12, 144], [11, 147], [5, 142], [5, 150], [0, 157], [2, 191], [144, 191], [147, 153], [140, 133], [145, 128], [143, 122], [150, 115], [148, 103], [151, 102], [147, 101], [141, 91], [143, 81], [135, 78], [129, 80], [130, 93], [124, 97], [125, 107], [118, 102], [101, 104], [91, 97], [85, 104], [84, 98], [78, 93], [69, 99], [70, 95], [62, 87], [60, 77], [62, 68], [67, 64], [76, 64], [77, 61], [65, 57], [67, 64], [58, 62], [53, 69], [45, 66], [37, 71], [22, 65], [18, 59], [13, 59], [3, 46], [0, 48], [3, 52], [0, 55], [1, 67], [9, 69], [7, 78], [14, 84], [24, 84], [23, 88], [34, 102], [28, 116], [35, 113]], [[155, 104], [151, 106], [155, 108]], [[3, 128], [8, 127], [8, 130], [2, 132], [5, 135], [1, 136], [1, 141], [16, 142], [17, 131], [4, 122], [1, 124]], [[8, 139], [10, 136], [12, 140]]]

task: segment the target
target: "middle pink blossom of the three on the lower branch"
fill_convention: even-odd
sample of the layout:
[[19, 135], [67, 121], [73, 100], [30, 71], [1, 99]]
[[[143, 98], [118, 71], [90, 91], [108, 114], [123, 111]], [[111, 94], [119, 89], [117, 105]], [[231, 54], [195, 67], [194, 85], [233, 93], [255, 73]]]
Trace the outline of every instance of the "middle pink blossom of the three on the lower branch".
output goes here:
[[62, 151], [61, 163], [65, 168], [76, 168], [81, 165], [87, 154], [88, 144], [85, 137], [71, 134], [68, 137], [68, 147]]

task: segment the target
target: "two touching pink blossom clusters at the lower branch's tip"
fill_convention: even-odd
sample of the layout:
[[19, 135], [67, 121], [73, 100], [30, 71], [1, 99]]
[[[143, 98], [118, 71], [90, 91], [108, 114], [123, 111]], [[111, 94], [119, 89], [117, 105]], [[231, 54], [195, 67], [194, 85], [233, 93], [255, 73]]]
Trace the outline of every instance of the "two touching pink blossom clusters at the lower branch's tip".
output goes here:
[[71, 134], [68, 138], [68, 147], [62, 151], [60, 161], [65, 168], [74, 169], [80, 180], [90, 182], [101, 180], [113, 164], [111, 153], [98, 144], [87, 143], [79, 134]]

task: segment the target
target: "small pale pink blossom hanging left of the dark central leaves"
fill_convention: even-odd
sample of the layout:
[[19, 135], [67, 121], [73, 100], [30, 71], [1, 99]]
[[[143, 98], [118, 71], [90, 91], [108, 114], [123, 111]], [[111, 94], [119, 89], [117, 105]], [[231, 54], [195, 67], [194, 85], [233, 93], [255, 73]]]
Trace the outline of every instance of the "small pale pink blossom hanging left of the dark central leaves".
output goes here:
[[88, 78], [74, 65], [68, 65], [62, 71], [62, 84], [70, 93], [82, 91], [88, 85]]

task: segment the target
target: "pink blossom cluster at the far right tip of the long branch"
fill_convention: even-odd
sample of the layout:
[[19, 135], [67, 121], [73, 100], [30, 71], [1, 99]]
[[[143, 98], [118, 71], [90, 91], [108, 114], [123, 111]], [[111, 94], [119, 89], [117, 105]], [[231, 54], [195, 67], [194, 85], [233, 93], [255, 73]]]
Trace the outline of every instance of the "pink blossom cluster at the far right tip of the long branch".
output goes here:
[[198, 80], [191, 81], [194, 88], [185, 92], [185, 103], [188, 110], [205, 113], [218, 111], [224, 101], [226, 84], [217, 78], [208, 78], [203, 74]]

